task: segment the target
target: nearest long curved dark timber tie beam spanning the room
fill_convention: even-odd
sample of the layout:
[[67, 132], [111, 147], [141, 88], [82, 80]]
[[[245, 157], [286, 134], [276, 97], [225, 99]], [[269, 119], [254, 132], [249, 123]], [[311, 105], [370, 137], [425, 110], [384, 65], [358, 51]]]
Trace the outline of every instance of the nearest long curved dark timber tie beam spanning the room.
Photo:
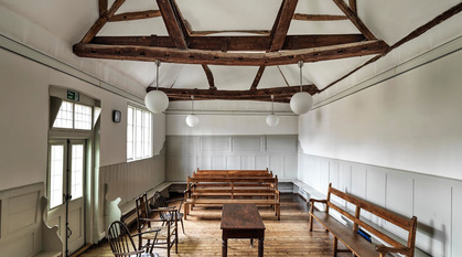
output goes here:
[[347, 58], [388, 51], [384, 41], [373, 40], [342, 45], [331, 45], [304, 50], [270, 53], [224, 53], [221, 51], [179, 50], [132, 45], [98, 45], [75, 44], [73, 50], [77, 56], [109, 60], [131, 60], [165, 63], [270, 66], [294, 64], [299, 61], [319, 62], [326, 60]]

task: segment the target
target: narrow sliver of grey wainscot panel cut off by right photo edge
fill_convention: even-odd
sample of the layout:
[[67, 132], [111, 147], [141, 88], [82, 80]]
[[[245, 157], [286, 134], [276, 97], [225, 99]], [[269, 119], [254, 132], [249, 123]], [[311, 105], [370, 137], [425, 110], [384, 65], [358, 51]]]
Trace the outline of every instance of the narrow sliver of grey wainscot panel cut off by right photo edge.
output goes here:
[[452, 257], [462, 256], [462, 182], [452, 188]]

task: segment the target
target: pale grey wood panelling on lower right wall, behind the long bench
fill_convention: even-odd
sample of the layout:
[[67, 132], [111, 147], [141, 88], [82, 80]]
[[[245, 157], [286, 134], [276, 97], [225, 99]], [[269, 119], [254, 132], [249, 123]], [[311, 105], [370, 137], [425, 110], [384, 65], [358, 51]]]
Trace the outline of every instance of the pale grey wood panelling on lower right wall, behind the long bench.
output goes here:
[[[339, 163], [339, 178], [330, 171], [331, 181], [339, 180], [337, 188], [361, 199], [396, 212], [406, 217], [418, 218], [417, 247], [438, 257], [458, 257], [462, 237], [460, 216], [462, 215], [462, 182], [416, 172], [375, 167], [364, 163], [334, 160], [308, 154], [299, 156], [299, 180], [314, 188], [320, 184], [322, 163]], [[321, 163], [321, 164], [316, 164]], [[318, 170], [316, 170], [318, 169]], [[324, 185], [327, 188], [327, 184]], [[319, 193], [326, 190], [315, 189]], [[336, 197], [333, 197], [337, 201]], [[342, 201], [339, 201], [343, 204]], [[347, 206], [353, 210], [352, 205]], [[364, 212], [378, 226], [406, 237], [407, 234], [394, 225], [385, 223]]]

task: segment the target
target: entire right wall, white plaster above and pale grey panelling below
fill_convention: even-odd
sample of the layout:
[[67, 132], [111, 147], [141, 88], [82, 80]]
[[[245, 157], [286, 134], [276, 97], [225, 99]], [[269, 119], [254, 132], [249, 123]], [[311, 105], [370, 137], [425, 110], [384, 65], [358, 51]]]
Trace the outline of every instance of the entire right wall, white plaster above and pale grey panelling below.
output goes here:
[[462, 51], [441, 54], [300, 117], [299, 180], [416, 215], [419, 248], [461, 256], [461, 67]]

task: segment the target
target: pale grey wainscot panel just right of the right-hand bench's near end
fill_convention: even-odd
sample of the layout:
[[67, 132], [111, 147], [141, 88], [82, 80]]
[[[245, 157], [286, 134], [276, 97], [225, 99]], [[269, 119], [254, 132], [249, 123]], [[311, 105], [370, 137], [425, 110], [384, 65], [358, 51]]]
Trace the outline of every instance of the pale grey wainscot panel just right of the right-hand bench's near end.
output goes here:
[[421, 224], [418, 246], [434, 256], [450, 253], [451, 186], [447, 180], [417, 176], [415, 180], [415, 215]]

